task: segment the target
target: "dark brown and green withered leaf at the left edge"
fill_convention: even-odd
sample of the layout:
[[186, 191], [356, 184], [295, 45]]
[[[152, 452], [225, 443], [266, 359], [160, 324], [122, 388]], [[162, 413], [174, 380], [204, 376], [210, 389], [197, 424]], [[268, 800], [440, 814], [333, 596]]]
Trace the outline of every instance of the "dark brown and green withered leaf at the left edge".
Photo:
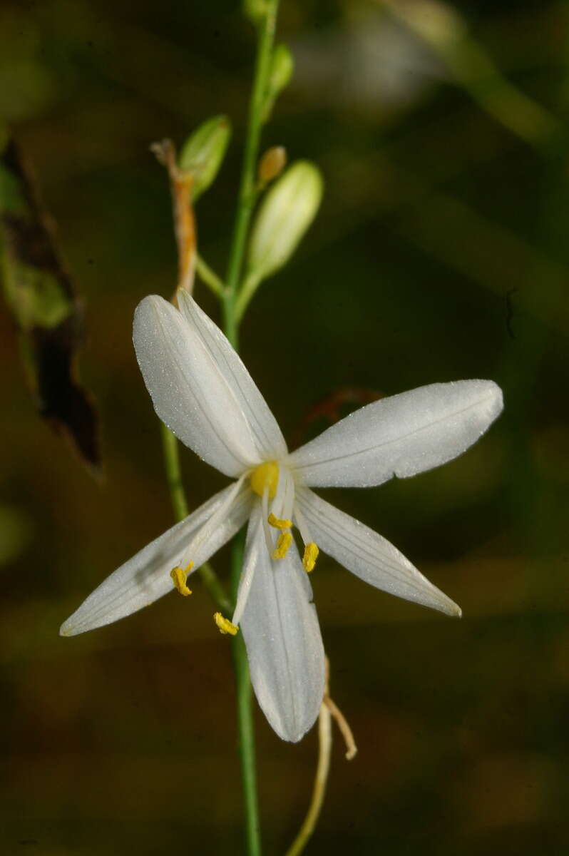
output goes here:
[[72, 439], [98, 474], [98, 416], [77, 377], [83, 312], [54, 228], [10, 140], [0, 156], [0, 276], [39, 413]]

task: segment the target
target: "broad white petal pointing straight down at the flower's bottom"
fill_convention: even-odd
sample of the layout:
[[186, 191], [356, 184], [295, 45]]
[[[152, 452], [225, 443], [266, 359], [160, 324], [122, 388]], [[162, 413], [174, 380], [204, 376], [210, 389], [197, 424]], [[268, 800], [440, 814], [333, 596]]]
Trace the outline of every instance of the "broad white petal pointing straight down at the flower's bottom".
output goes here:
[[[324, 692], [324, 651], [312, 591], [294, 544], [272, 562], [260, 502], [249, 523], [241, 630], [258, 703], [276, 734], [296, 742], [314, 724]], [[248, 573], [254, 564], [254, 574]]]

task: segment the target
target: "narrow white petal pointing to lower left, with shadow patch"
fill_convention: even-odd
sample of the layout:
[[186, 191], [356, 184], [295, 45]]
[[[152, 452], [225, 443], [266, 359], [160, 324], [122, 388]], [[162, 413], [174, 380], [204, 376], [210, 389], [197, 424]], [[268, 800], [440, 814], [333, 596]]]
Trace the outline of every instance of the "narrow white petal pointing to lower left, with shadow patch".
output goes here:
[[186, 568], [192, 561], [193, 570], [197, 570], [207, 562], [243, 526], [250, 513], [252, 493], [245, 488], [210, 538], [200, 543], [195, 552], [191, 551], [193, 536], [201, 526], [207, 525], [211, 515], [216, 513], [231, 490], [233, 484], [216, 493], [186, 520], [176, 523], [110, 574], [62, 624], [59, 631], [62, 636], [85, 633], [86, 630], [103, 627], [125, 615], [131, 615], [174, 590], [170, 578], [172, 568]]

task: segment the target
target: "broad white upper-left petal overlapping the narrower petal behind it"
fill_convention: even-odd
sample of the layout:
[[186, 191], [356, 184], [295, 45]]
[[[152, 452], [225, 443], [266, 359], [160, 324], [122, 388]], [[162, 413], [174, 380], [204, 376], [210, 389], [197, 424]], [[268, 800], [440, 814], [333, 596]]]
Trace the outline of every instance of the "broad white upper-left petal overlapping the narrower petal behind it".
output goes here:
[[182, 443], [228, 476], [262, 460], [234, 388], [181, 312], [145, 297], [133, 341], [154, 409]]

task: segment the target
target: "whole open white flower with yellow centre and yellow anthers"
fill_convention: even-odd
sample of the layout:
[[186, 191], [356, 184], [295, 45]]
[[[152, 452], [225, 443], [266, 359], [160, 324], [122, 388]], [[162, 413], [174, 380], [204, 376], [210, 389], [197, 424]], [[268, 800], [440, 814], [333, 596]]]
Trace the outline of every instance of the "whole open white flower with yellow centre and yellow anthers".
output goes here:
[[[118, 568], [62, 625], [72, 636], [130, 615], [175, 587], [249, 520], [239, 594], [224, 632], [243, 632], [258, 702], [284, 740], [300, 740], [323, 697], [324, 651], [306, 571], [318, 548], [376, 588], [460, 615], [381, 535], [312, 487], [370, 487], [460, 455], [498, 416], [492, 381], [433, 383], [384, 398], [288, 454], [263, 396], [221, 330], [185, 292], [180, 311], [146, 297], [134, 348], [160, 419], [235, 479]], [[304, 543], [301, 558], [292, 529]], [[317, 546], [318, 545], [318, 546]], [[173, 570], [174, 568], [174, 570]]]

